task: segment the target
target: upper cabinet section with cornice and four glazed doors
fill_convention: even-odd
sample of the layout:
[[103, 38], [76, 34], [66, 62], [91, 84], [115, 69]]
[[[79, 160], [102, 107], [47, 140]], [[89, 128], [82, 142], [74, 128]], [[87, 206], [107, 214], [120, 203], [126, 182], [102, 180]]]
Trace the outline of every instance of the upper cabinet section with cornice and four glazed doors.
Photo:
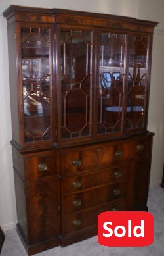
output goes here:
[[54, 147], [146, 130], [157, 22], [15, 5], [3, 14], [12, 143]]

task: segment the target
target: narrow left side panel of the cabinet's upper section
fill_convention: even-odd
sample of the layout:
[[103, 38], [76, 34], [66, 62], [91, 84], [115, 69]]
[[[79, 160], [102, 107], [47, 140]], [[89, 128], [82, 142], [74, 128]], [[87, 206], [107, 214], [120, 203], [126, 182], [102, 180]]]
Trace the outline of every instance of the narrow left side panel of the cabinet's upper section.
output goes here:
[[20, 122], [18, 110], [18, 81], [17, 81], [17, 53], [16, 53], [16, 25], [8, 26], [9, 43], [9, 81], [10, 81], [10, 107], [12, 118], [12, 138], [20, 144]]

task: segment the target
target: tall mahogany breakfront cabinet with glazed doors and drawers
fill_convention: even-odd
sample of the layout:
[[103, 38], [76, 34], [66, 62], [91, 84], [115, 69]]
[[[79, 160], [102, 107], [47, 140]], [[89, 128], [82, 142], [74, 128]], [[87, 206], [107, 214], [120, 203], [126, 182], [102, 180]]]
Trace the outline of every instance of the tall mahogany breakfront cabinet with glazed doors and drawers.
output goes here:
[[11, 141], [29, 255], [96, 235], [103, 211], [147, 211], [157, 22], [10, 6]]

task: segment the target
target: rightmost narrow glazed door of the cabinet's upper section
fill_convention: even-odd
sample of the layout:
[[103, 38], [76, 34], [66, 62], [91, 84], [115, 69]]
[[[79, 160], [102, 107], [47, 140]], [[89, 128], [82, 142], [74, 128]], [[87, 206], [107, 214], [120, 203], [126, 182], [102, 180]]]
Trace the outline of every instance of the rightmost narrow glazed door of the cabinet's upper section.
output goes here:
[[130, 36], [126, 116], [127, 130], [144, 128], [146, 123], [148, 43], [148, 36]]

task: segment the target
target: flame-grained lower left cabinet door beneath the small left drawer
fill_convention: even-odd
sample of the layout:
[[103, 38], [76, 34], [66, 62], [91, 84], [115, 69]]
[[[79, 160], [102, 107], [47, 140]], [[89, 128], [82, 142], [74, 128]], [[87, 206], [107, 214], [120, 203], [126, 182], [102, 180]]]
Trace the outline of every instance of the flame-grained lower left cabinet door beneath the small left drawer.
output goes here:
[[58, 191], [57, 178], [26, 185], [29, 243], [57, 237], [60, 234]]

